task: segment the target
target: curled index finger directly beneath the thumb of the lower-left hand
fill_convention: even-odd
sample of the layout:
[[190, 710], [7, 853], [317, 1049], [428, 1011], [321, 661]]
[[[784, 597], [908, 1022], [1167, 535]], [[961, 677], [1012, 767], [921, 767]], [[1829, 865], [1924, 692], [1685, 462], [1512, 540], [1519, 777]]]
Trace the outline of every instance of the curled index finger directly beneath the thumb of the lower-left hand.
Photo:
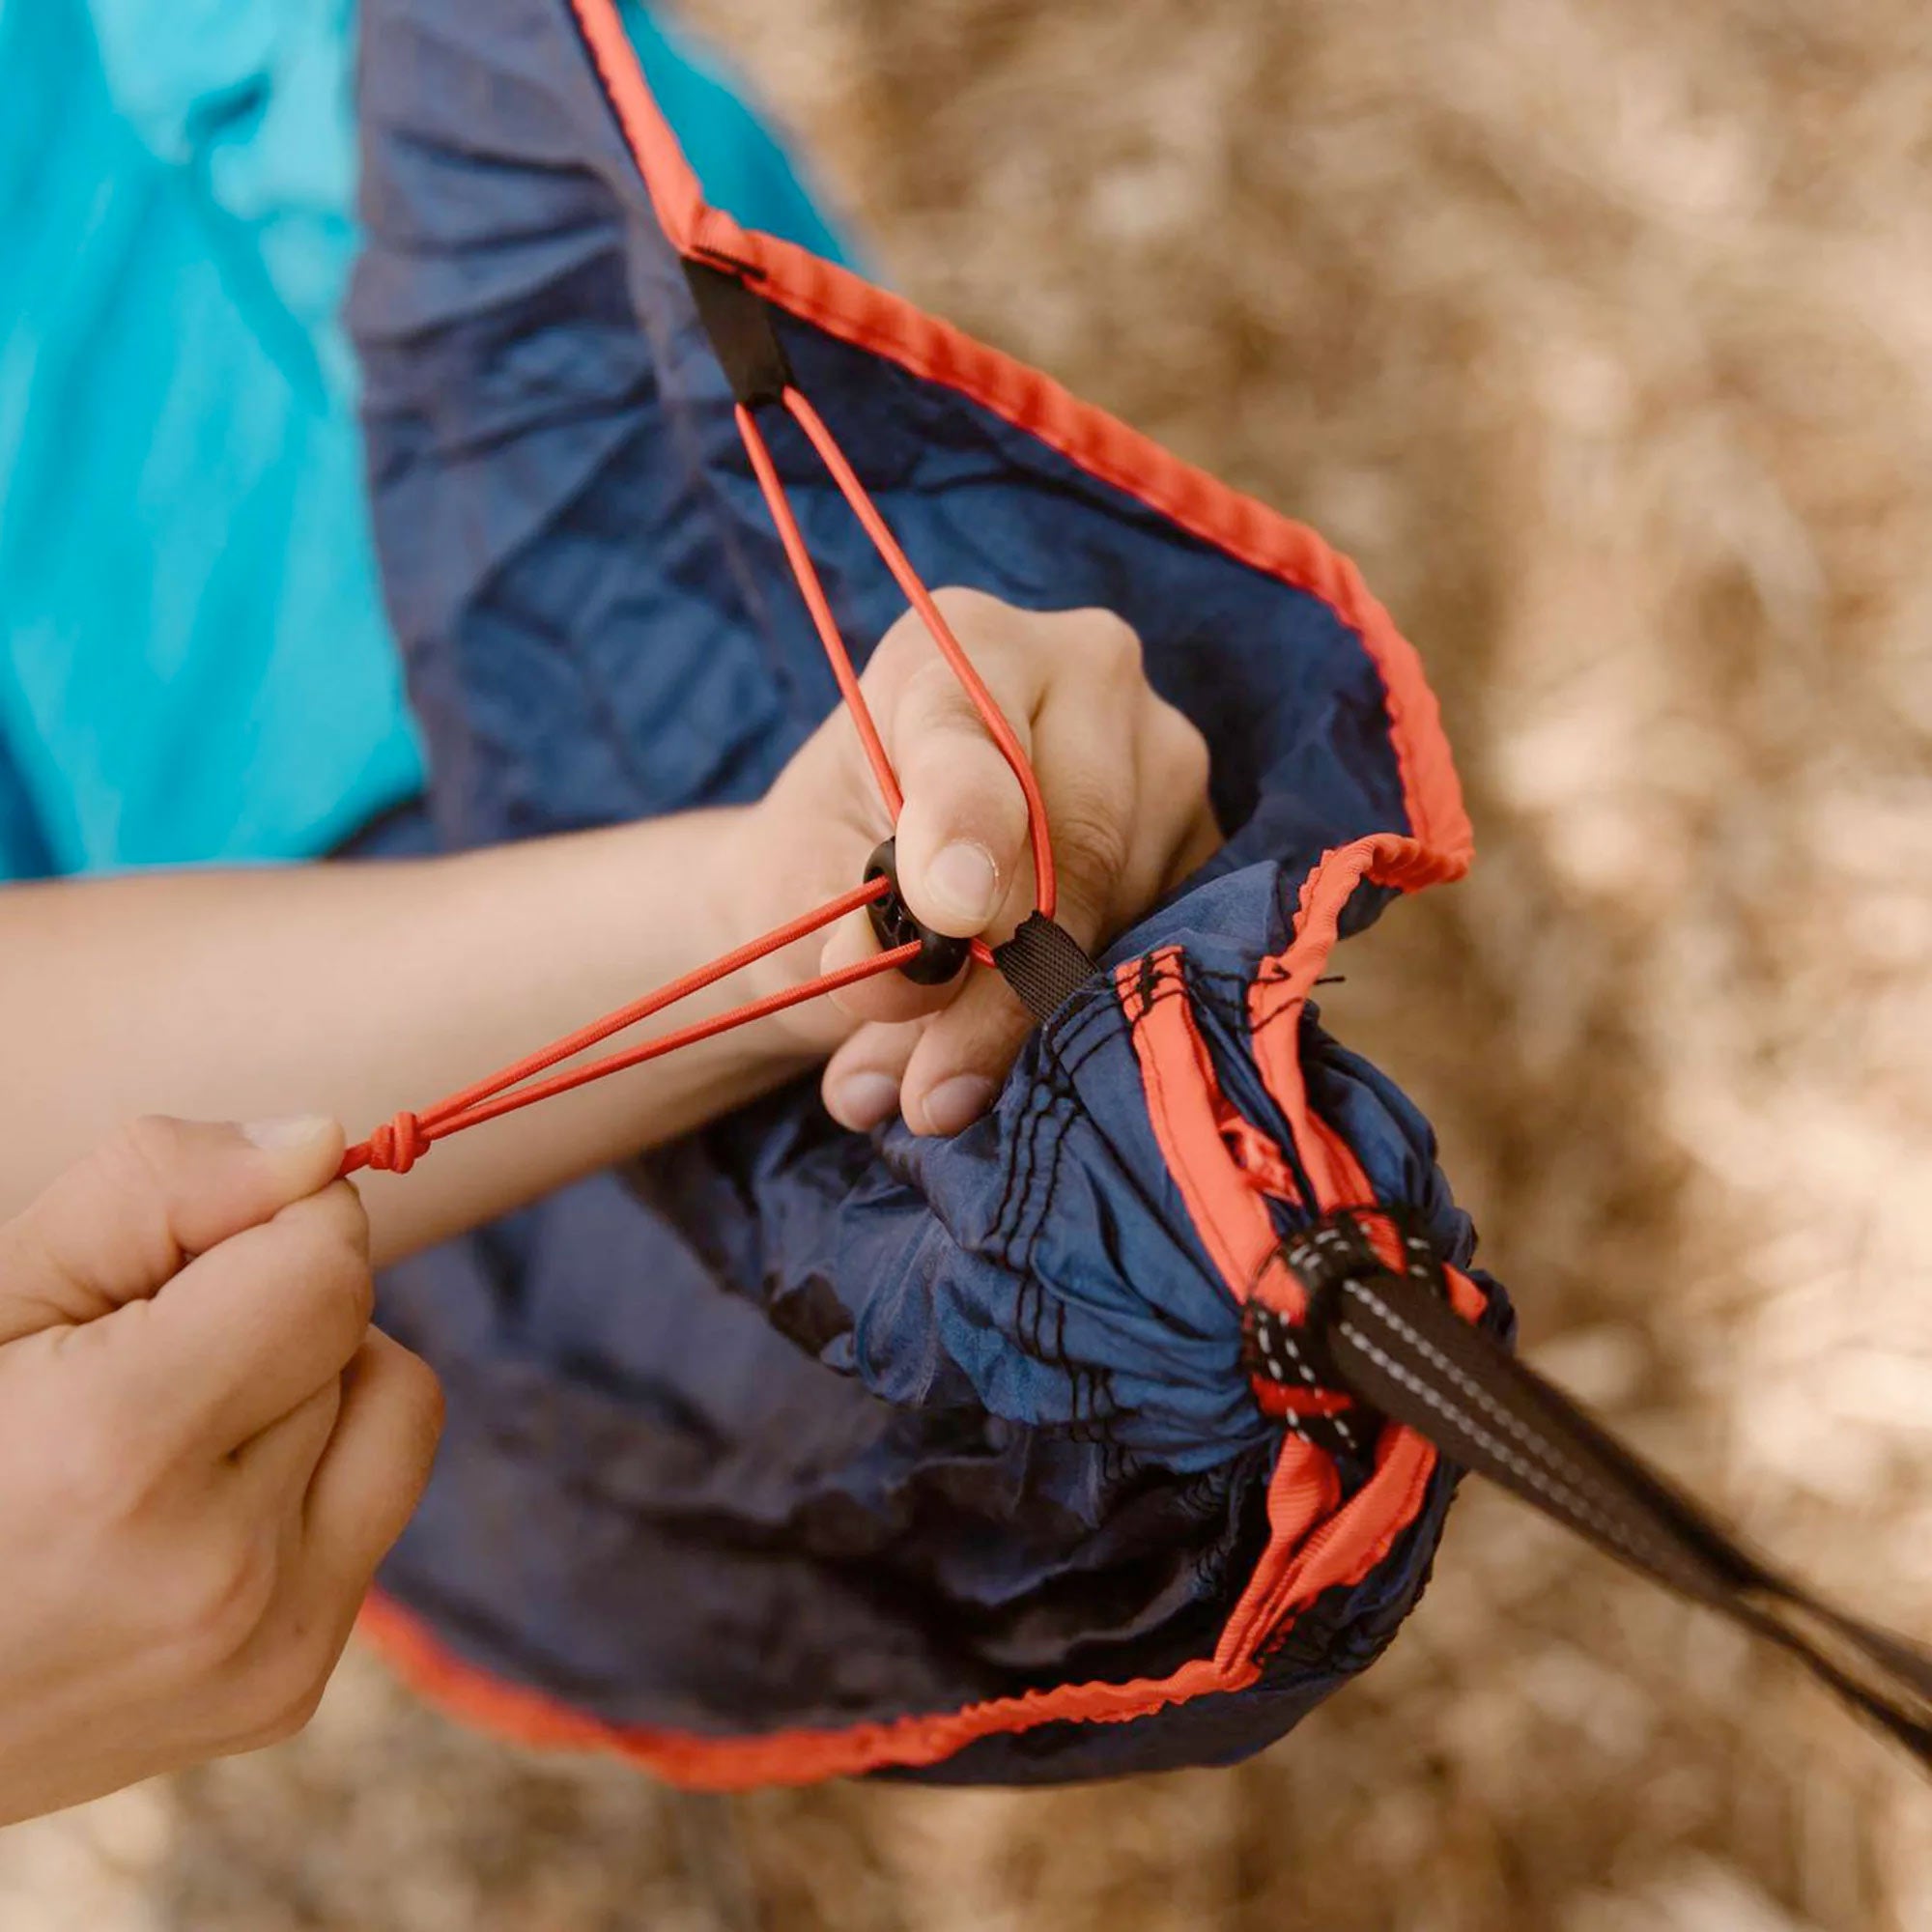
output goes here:
[[[344, 1180], [182, 1269], [128, 1329], [178, 1434], [228, 1453], [342, 1374], [369, 1331], [369, 1217]], [[118, 1337], [116, 1337], [118, 1339]]]

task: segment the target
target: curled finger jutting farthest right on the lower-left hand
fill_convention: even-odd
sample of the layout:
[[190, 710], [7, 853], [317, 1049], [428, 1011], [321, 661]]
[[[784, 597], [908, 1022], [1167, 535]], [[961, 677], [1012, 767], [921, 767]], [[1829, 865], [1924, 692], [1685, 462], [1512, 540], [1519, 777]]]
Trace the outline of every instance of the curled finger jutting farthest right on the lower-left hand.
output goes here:
[[342, 1414], [309, 1484], [303, 1571], [311, 1586], [361, 1594], [415, 1515], [442, 1434], [429, 1364], [371, 1329], [342, 1378]]

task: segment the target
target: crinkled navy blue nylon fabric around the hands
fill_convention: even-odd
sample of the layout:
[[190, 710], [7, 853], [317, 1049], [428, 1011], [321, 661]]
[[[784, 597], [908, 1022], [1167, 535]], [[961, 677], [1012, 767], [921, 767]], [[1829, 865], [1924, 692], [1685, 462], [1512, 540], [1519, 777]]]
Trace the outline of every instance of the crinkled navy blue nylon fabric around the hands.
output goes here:
[[[431, 823], [371, 850], [755, 798], [837, 694], [564, 0], [369, 0], [361, 31], [350, 319], [431, 759]], [[962, 396], [779, 327], [929, 582], [1119, 611], [1206, 730], [1229, 848], [1111, 956], [1184, 947], [1229, 1095], [1279, 1126], [1238, 989], [1325, 848], [1406, 829], [1360, 639]], [[767, 435], [864, 657], [898, 593], [794, 425]], [[1304, 1053], [1378, 1190], [1466, 1254], [1420, 1117], [1314, 1026]], [[1277, 1430], [1101, 981], [956, 1140], [844, 1134], [802, 1084], [394, 1269], [383, 1320], [450, 1393], [384, 1586], [612, 1723], [740, 1737], [1159, 1677], [1213, 1648], [1265, 1542]], [[1254, 1690], [931, 1776], [1258, 1748], [1393, 1633], [1447, 1492]]]

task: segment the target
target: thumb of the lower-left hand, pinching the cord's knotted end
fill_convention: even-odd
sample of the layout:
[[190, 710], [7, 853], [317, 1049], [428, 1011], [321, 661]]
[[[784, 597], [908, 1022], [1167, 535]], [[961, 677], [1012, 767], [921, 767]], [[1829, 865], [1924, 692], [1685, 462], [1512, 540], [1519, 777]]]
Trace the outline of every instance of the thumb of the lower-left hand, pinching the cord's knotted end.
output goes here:
[[195, 1254], [325, 1188], [342, 1128], [131, 1121], [0, 1223], [0, 1345], [143, 1300]]

